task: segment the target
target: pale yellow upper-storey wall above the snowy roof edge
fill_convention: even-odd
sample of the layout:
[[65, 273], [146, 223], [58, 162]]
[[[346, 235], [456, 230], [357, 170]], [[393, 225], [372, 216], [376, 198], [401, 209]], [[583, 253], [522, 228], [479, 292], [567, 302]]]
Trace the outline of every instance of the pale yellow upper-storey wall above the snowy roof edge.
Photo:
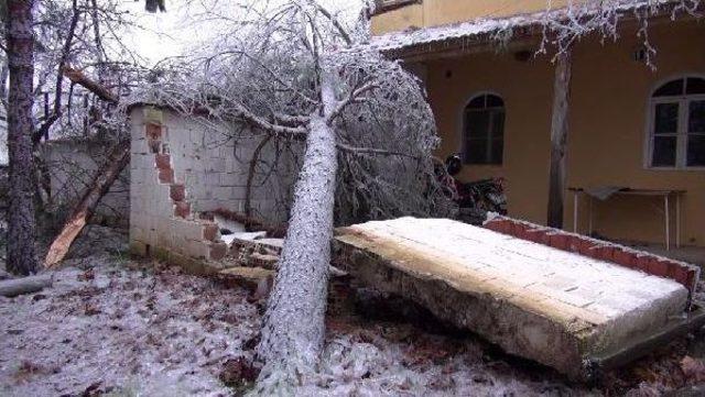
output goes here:
[[[561, 8], [566, 0], [553, 0]], [[403, 31], [408, 27], [431, 27], [480, 18], [503, 18], [546, 10], [547, 0], [423, 0], [372, 18], [372, 34]]]

